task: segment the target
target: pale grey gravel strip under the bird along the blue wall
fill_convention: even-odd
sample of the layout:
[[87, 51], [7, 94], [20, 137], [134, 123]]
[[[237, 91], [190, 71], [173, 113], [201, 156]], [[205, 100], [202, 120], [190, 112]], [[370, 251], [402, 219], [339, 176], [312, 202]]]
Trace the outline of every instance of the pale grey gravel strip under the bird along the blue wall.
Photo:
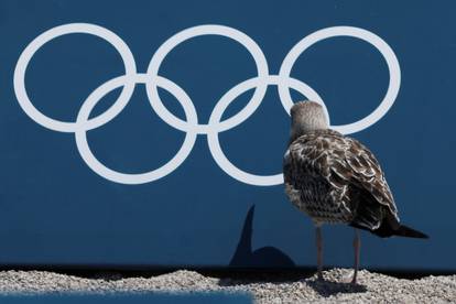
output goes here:
[[456, 303], [456, 275], [406, 280], [361, 270], [354, 286], [344, 283], [350, 274], [347, 269], [332, 269], [324, 272], [325, 281], [318, 281], [315, 275], [203, 275], [187, 270], [152, 276], [9, 270], [0, 271], [0, 294], [218, 291], [247, 292], [257, 303]]

